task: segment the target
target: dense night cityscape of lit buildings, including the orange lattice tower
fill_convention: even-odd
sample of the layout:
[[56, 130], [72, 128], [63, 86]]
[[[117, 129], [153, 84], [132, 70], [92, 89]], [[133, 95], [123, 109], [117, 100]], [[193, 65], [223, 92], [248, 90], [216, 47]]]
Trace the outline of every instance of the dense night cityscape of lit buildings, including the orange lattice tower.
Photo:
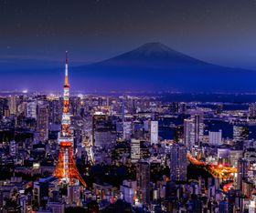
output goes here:
[[256, 104], [0, 97], [0, 212], [256, 212]]

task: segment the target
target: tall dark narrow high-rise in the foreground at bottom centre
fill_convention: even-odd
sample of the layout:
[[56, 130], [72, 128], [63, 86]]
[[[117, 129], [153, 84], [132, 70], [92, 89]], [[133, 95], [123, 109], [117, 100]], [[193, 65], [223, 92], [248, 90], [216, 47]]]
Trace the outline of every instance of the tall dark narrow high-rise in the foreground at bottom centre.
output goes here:
[[150, 164], [139, 161], [136, 167], [137, 195], [140, 202], [150, 203]]

